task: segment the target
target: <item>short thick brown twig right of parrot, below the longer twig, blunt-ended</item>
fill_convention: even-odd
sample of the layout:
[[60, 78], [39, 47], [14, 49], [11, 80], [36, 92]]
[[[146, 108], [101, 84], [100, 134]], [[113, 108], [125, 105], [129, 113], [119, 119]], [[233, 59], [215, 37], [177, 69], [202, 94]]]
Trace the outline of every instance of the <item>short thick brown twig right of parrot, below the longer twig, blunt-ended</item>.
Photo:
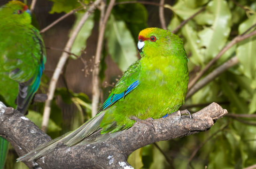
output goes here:
[[206, 77], [204, 77], [201, 81], [199, 81], [196, 85], [194, 85], [186, 94], [186, 99], [188, 99], [189, 97], [191, 97], [195, 92], [199, 91], [203, 86], [205, 86], [206, 84], [208, 84], [210, 81], [212, 81], [213, 79], [215, 79], [218, 75], [220, 75], [221, 73], [223, 73], [225, 70], [233, 67], [234, 65], [236, 65], [239, 62], [238, 58], [236, 56], [234, 56], [233, 58], [231, 58], [230, 60], [226, 61], [225, 63], [223, 63], [222, 65], [220, 65], [219, 67], [217, 67], [217, 69], [213, 70], [211, 73], [209, 73], [209, 75], [207, 75]]

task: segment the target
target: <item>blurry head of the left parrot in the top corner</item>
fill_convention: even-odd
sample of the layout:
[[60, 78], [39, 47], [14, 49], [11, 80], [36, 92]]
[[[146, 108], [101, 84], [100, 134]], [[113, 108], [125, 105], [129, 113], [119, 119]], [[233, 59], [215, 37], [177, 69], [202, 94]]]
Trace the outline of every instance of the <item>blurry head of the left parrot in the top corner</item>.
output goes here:
[[28, 6], [23, 4], [21, 1], [9, 1], [0, 12], [4, 15], [3, 18], [6, 18], [6, 22], [21, 24], [31, 23], [31, 12]]

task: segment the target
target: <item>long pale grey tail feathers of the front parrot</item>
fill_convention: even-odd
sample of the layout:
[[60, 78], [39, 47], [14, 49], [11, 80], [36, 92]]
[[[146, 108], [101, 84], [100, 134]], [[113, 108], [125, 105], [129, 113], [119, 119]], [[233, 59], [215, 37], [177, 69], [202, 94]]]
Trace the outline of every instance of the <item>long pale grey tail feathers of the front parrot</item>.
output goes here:
[[102, 118], [104, 117], [104, 112], [101, 114], [91, 118], [88, 122], [80, 126], [77, 130], [71, 131], [59, 138], [55, 138], [52, 141], [49, 141], [28, 154], [25, 154], [17, 159], [17, 161], [32, 161], [35, 160], [41, 156], [44, 156], [46, 154], [49, 154], [51, 151], [54, 150], [54, 148], [59, 144], [63, 143], [67, 146], [74, 146], [81, 142], [83, 139], [89, 137], [93, 133], [96, 133], [97, 131], [100, 131], [99, 124], [101, 123]]

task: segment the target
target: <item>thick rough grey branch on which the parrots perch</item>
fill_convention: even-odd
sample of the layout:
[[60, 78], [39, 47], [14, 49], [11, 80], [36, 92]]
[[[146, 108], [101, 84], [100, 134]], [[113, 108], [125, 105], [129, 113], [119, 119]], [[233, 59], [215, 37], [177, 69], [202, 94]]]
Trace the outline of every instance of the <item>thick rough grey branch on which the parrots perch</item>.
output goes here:
[[[46, 143], [51, 138], [34, 123], [13, 108], [0, 108], [0, 133], [7, 135], [8, 141], [18, 154], [29, 152]], [[43, 169], [132, 169], [127, 157], [136, 149], [161, 140], [180, 138], [200, 131], [209, 130], [217, 119], [227, 114], [217, 103], [193, 114], [193, 118], [172, 113], [150, 124], [135, 123], [130, 129], [115, 138], [102, 143], [67, 147], [59, 145], [51, 153], [36, 162]], [[86, 152], [86, 153], [85, 153]]]

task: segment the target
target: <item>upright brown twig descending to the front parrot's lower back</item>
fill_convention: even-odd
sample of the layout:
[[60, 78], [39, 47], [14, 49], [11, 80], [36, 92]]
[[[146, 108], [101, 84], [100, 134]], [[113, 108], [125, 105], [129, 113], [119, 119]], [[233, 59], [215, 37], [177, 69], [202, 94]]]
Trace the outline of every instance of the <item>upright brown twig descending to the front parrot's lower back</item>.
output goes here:
[[101, 25], [100, 25], [100, 32], [99, 32], [99, 37], [98, 37], [98, 43], [97, 43], [95, 61], [94, 61], [94, 69], [93, 69], [92, 116], [96, 115], [97, 111], [98, 111], [97, 108], [98, 108], [99, 100], [100, 100], [99, 65], [100, 65], [100, 59], [101, 59], [101, 49], [102, 49], [102, 44], [103, 44], [106, 23], [109, 19], [109, 15], [110, 15], [112, 8], [114, 7], [114, 4], [115, 4], [115, 0], [110, 0], [109, 6], [106, 10], [103, 21], [101, 22]]

